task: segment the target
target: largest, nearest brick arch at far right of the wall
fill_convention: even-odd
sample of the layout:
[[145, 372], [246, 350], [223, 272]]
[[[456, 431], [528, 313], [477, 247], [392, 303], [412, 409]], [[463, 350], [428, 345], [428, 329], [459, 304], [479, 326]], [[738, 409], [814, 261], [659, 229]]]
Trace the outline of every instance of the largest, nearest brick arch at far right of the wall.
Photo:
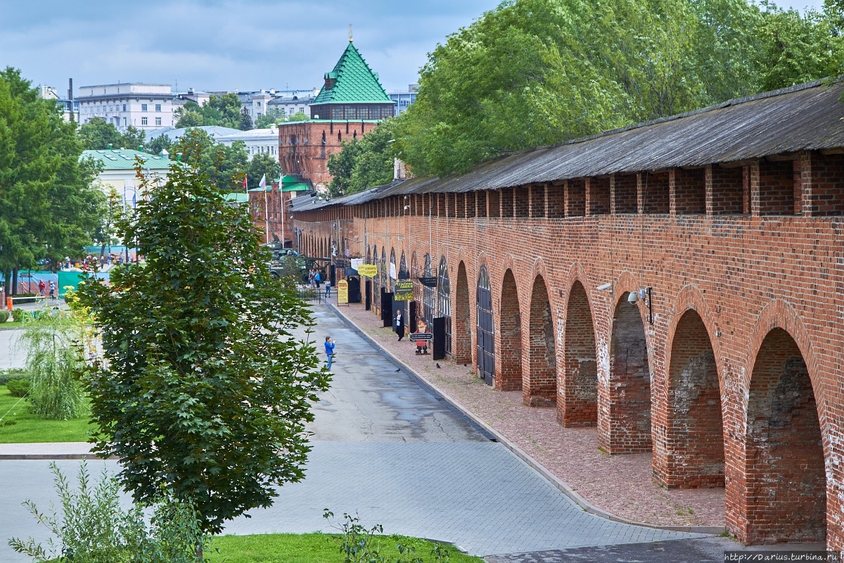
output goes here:
[[[748, 544], [821, 541], [827, 502], [825, 392], [803, 323], [782, 300], [751, 338], [744, 420], [744, 503], [728, 527]], [[738, 484], [740, 485], [740, 483]]]

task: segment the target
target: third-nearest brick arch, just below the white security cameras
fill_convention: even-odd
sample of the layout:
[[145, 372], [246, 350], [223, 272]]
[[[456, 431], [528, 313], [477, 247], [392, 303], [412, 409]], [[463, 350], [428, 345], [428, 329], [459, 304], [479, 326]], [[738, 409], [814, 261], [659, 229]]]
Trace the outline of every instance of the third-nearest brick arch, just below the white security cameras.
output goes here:
[[[609, 379], [598, 382], [598, 446], [611, 454], [652, 451], [651, 365], [641, 301], [627, 302], [641, 283], [625, 272], [614, 286]], [[604, 384], [605, 383], [605, 384]]]

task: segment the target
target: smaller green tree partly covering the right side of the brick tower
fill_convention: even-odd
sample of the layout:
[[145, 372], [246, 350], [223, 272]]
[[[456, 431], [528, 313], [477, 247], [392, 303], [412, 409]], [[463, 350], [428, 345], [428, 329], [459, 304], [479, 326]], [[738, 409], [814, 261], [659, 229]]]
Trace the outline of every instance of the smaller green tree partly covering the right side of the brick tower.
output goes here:
[[343, 149], [328, 157], [331, 195], [363, 192], [392, 181], [394, 133], [394, 121], [389, 119], [363, 137], [344, 141]]

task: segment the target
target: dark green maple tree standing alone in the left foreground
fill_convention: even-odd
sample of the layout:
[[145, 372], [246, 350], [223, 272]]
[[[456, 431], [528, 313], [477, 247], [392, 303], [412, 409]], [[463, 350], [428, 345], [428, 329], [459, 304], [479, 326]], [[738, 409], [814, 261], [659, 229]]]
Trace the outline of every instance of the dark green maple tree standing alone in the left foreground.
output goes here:
[[310, 312], [292, 285], [271, 283], [249, 215], [204, 176], [201, 149], [184, 154], [122, 224], [146, 265], [79, 294], [107, 359], [89, 387], [95, 451], [120, 459], [136, 501], [164, 487], [219, 533], [302, 479], [305, 424], [330, 374], [292, 335]]

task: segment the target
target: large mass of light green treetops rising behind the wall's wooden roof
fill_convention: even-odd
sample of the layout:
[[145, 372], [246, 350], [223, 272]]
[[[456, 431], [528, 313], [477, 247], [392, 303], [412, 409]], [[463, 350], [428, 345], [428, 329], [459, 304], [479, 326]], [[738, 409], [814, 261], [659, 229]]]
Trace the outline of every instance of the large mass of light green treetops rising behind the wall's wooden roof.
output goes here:
[[764, 8], [507, 0], [430, 53], [395, 149], [418, 174], [444, 176], [830, 72], [819, 16]]

